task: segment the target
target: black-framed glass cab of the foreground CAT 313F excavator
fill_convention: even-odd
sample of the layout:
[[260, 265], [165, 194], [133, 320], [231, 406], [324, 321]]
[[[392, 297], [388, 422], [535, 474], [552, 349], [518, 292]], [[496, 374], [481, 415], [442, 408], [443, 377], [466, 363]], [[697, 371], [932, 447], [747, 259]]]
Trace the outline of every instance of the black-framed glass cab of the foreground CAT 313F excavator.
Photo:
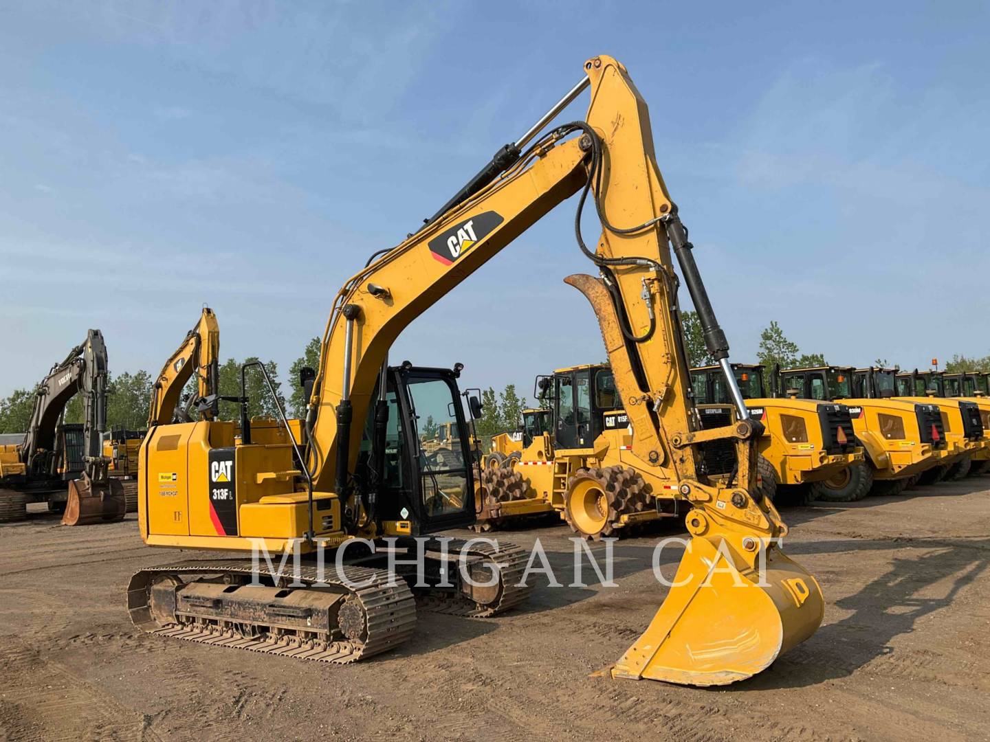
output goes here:
[[[374, 405], [368, 411], [355, 478], [366, 496], [377, 490], [377, 516], [411, 521], [413, 535], [474, 522], [470, 425], [476, 403], [457, 388], [457, 373], [405, 363], [387, 374], [381, 486], [375, 487]], [[374, 397], [378, 398], [378, 390]]]

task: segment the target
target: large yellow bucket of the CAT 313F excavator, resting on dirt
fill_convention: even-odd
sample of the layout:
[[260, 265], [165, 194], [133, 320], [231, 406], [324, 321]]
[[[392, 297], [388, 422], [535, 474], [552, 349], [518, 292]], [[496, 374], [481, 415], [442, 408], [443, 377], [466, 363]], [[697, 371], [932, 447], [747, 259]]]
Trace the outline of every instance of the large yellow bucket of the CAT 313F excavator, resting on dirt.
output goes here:
[[667, 599], [613, 678], [722, 686], [770, 666], [822, 623], [825, 601], [814, 577], [779, 549], [766, 550], [762, 580], [718, 538], [695, 536]]

